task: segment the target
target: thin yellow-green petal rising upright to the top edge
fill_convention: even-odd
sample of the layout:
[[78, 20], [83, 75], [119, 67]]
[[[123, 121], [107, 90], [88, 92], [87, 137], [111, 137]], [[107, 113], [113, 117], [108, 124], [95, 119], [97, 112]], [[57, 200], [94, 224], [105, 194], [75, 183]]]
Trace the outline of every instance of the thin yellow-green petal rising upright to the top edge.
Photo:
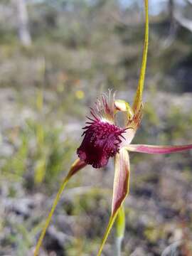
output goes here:
[[146, 59], [148, 52], [148, 44], [149, 44], [149, 11], [148, 11], [148, 0], [145, 0], [145, 36], [144, 36], [144, 51], [142, 58], [142, 68], [139, 76], [139, 83], [137, 87], [137, 92], [134, 97], [133, 110], [137, 112], [142, 104], [142, 93], [144, 89], [144, 78], [146, 73]]

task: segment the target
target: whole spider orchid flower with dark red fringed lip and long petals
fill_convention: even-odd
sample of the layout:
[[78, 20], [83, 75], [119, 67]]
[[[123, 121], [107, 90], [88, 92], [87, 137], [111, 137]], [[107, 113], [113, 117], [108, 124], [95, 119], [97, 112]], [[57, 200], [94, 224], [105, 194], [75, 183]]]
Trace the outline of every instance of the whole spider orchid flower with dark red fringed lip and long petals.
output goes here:
[[[145, 37], [144, 37], [144, 53], [142, 59], [142, 68], [139, 77], [137, 92], [134, 97], [132, 107], [123, 100], [115, 100], [114, 95], [109, 93], [108, 96], [102, 95], [98, 98], [95, 106], [90, 110], [90, 116], [85, 125], [82, 134], [83, 139], [77, 154], [78, 159], [73, 163], [68, 175], [65, 177], [58, 194], [53, 202], [46, 223], [41, 232], [40, 238], [36, 245], [34, 256], [38, 255], [41, 243], [46, 234], [46, 230], [53, 216], [55, 207], [58, 204], [60, 196], [69, 179], [87, 164], [93, 168], [101, 168], [107, 165], [110, 157], [114, 157], [114, 185], [112, 195], [112, 213], [102, 239], [100, 250], [97, 256], [102, 253], [102, 248], [110, 233], [114, 220], [117, 219], [117, 235], [119, 235], [119, 244], [121, 243], [124, 233], [124, 208], [123, 203], [129, 193], [129, 152], [142, 152], [146, 154], [167, 154], [176, 151], [192, 149], [192, 144], [183, 146], [151, 146], [142, 144], [131, 144], [134, 135], [139, 128], [142, 120], [142, 92], [144, 87], [144, 77], [146, 70], [146, 57], [148, 50], [149, 37], [149, 19], [148, 19], [148, 0], [145, 3]], [[117, 124], [117, 113], [123, 112], [125, 117], [124, 127]], [[120, 245], [119, 245], [120, 247]], [[119, 255], [119, 253], [117, 253]]]

